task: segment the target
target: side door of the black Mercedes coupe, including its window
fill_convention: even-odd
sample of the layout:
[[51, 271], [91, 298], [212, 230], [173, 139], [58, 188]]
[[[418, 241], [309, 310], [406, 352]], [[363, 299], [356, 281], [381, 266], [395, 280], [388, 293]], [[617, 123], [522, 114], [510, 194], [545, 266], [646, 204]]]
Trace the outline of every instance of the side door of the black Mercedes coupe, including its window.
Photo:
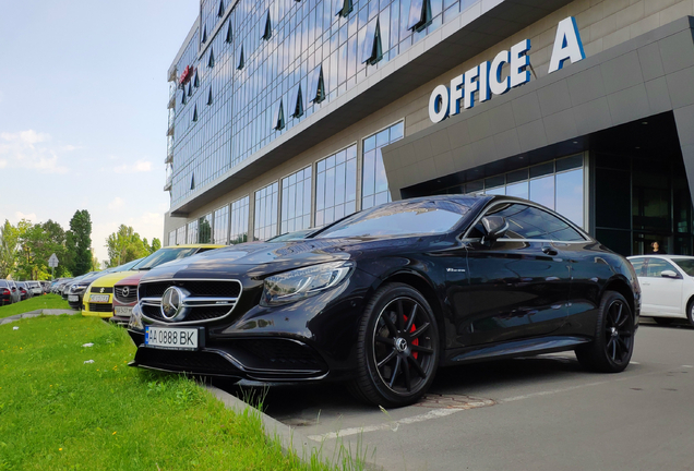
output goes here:
[[[570, 270], [548, 234], [557, 228], [549, 213], [527, 204], [501, 202], [482, 216], [508, 222], [503, 238], [483, 240], [480, 222], [466, 234], [465, 295], [454, 303], [456, 324], [466, 325], [472, 345], [551, 334], [564, 324]], [[553, 218], [553, 216], [552, 216]]]

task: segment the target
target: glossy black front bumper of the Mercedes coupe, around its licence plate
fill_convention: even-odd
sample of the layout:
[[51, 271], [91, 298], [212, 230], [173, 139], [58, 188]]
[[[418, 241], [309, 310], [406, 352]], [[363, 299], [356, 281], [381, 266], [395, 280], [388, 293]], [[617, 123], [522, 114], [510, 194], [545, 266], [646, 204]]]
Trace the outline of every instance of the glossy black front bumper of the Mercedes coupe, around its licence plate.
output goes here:
[[234, 318], [180, 326], [200, 328], [198, 350], [145, 346], [147, 325], [177, 324], [147, 321], [137, 305], [128, 329], [137, 346], [131, 365], [261, 382], [351, 377], [358, 326], [373, 281], [357, 270], [345, 285], [312, 298], [273, 307], [254, 305]]

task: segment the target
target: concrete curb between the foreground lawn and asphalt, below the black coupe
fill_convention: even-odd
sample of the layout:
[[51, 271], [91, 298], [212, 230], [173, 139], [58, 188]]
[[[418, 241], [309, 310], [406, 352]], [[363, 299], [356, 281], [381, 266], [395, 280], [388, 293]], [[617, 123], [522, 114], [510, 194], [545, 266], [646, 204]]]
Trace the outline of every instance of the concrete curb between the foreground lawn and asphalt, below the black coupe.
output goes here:
[[[328, 449], [328, 442], [318, 443], [307, 438], [303, 434], [297, 431], [296, 427], [291, 427], [289, 425], [285, 425], [282, 422], [271, 418], [270, 415], [263, 413], [259, 409], [250, 406], [247, 402], [243, 402], [241, 399], [237, 398], [229, 392], [226, 392], [219, 388], [214, 386], [207, 386], [207, 390], [212, 392], [217, 399], [219, 399], [226, 408], [231, 409], [236, 413], [242, 413], [246, 409], [252, 409], [255, 411], [261, 421], [263, 422], [263, 427], [265, 430], [265, 435], [268, 438], [277, 438], [282, 444], [282, 449], [285, 452], [294, 451], [299, 459], [303, 462], [310, 462], [311, 456], [315, 455], [319, 458], [328, 457], [328, 456], [338, 456], [338, 447], [342, 445], [340, 440], [331, 440], [334, 443], [335, 449]], [[344, 452], [344, 450], [343, 450]], [[354, 458], [354, 455], [352, 455]], [[356, 459], [355, 459], [356, 461]], [[337, 463], [333, 463], [337, 464]], [[383, 467], [376, 466], [375, 463], [364, 462], [364, 470], [372, 471], [382, 471]]]

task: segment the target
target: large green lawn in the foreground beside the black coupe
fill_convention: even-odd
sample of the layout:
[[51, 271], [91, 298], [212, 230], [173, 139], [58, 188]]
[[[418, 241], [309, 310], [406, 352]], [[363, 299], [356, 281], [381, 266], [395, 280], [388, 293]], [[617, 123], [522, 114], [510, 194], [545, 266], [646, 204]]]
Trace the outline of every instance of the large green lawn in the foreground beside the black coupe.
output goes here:
[[189, 378], [127, 366], [134, 352], [94, 317], [0, 326], [0, 470], [334, 469], [284, 455], [256, 412], [235, 414]]

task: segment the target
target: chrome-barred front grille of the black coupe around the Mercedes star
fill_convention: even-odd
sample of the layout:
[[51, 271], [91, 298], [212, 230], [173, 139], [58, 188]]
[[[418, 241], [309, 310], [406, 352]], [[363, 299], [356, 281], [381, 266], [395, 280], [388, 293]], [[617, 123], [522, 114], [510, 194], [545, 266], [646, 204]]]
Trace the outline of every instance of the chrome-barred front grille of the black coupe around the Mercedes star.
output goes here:
[[[168, 319], [161, 313], [161, 297], [171, 286], [189, 293], [181, 300], [180, 307], [183, 314], [175, 319]], [[141, 301], [143, 315], [151, 321], [193, 324], [216, 321], [231, 314], [241, 295], [241, 288], [239, 280], [151, 281], [140, 283], [137, 299]]]

